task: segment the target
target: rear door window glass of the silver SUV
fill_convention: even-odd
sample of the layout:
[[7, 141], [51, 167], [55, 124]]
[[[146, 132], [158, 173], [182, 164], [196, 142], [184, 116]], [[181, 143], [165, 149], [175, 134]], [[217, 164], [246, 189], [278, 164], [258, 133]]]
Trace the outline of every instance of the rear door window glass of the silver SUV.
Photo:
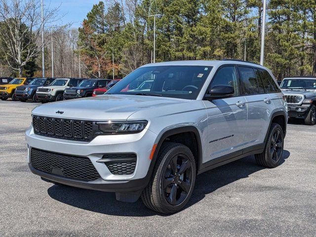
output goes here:
[[252, 68], [238, 66], [239, 76], [245, 95], [259, 93], [258, 81]]

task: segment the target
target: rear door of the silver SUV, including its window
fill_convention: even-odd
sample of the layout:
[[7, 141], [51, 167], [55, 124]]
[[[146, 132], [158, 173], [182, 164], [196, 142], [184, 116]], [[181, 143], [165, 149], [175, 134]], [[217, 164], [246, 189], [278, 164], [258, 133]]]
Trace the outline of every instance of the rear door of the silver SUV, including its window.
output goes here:
[[244, 137], [244, 148], [248, 148], [264, 142], [274, 106], [258, 69], [238, 66], [238, 73], [248, 109]]

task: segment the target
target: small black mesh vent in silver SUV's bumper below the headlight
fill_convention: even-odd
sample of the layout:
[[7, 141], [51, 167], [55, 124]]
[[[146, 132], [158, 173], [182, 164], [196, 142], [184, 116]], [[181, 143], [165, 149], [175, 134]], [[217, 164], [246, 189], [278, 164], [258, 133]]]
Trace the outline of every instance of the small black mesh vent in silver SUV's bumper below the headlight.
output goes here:
[[106, 154], [102, 157], [104, 163], [112, 174], [129, 175], [133, 174], [136, 167], [136, 154]]

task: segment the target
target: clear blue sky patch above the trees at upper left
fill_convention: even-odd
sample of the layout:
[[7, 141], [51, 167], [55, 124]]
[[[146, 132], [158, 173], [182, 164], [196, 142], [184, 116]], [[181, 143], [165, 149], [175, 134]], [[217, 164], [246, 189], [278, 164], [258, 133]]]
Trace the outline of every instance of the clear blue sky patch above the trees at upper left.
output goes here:
[[81, 26], [82, 20], [86, 18], [87, 13], [92, 9], [93, 4], [100, 0], [43, 0], [44, 7], [59, 7], [59, 16], [62, 17], [58, 22], [60, 25], [73, 23], [72, 27]]

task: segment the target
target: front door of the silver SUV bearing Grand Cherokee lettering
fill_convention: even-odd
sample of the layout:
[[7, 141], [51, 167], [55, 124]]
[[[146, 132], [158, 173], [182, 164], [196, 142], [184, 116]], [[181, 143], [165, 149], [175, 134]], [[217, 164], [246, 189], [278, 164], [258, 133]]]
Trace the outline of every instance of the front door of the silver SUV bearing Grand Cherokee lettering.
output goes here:
[[242, 153], [244, 130], [247, 126], [246, 99], [241, 95], [235, 65], [225, 65], [218, 69], [209, 88], [214, 85], [234, 86], [235, 95], [230, 98], [207, 101], [207, 134], [209, 155], [203, 162], [234, 153]]

